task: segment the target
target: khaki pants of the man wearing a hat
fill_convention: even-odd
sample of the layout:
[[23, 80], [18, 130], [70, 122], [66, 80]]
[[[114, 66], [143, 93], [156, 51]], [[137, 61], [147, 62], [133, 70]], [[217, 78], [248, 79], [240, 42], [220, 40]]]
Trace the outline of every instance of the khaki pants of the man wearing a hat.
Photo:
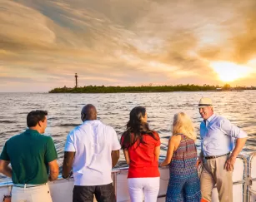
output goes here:
[[228, 155], [204, 160], [200, 177], [202, 198], [204, 200], [212, 200], [213, 186], [216, 185], [220, 202], [233, 201], [233, 172], [224, 170], [226, 160], [228, 160]]

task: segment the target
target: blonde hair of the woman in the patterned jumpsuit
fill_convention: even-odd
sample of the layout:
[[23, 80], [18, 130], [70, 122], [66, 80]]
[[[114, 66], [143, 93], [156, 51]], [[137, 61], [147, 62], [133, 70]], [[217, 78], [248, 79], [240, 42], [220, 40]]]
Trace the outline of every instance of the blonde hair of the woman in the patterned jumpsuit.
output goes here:
[[173, 135], [183, 134], [192, 140], [197, 139], [194, 131], [193, 122], [184, 112], [179, 112], [173, 117]]

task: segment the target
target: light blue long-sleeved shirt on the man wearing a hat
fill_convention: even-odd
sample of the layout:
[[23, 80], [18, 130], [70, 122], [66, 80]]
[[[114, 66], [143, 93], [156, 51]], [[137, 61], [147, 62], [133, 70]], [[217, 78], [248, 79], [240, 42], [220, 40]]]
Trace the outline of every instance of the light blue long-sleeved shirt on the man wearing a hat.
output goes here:
[[203, 156], [224, 155], [233, 150], [234, 140], [247, 134], [228, 119], [213, 114], [200, 125]]

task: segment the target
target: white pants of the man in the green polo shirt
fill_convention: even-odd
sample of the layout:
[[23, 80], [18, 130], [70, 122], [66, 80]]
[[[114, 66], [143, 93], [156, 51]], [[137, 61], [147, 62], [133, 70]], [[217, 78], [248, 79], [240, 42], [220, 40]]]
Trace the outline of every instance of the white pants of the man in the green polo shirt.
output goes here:
[[23, 188], [13, 186], [12, 202], [53, 202], [48, 184]]

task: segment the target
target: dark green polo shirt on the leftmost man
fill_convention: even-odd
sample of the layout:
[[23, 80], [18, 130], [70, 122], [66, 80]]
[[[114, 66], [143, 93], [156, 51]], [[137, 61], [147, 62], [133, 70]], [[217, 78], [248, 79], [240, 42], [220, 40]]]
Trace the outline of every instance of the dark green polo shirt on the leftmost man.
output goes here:
[[13, 184], [41, 185], [48, 181], [48, 162], [58, 158], [50, 136], [28, 129], [10, 138], [4, 145], [1, 160], [10, 160]]

